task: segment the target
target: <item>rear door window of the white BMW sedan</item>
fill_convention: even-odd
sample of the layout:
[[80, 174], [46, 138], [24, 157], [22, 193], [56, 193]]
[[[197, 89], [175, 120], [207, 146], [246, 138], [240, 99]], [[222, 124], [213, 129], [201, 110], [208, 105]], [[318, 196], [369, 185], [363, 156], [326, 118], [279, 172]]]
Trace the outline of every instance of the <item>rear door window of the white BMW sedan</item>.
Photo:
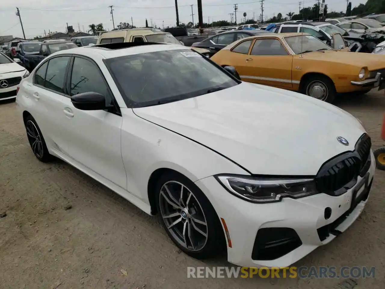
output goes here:
[[69, 59], [69, 56], [62, 56], [49, 60], [45, 76], [46, 88], [64, 93], [65, 72]]

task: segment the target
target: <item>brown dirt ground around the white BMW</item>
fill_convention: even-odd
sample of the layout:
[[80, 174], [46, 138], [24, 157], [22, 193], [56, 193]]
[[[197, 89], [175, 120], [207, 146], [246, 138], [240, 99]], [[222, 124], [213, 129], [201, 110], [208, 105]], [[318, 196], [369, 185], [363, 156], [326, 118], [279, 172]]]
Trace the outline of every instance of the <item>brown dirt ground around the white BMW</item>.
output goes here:
[[[384, 145], [380, 140], [384, 92], [343, 96], [336, 105], [363, 121], [373, 148]], [[384, 288], [384, 200], [385, 171], [377, 170], [357, 222], [295, 265], [375, 266], [375, 279], [358, 279], [355, 289]], [[158, 217], [141, 212], [62, 161], [40, 163], [27, 142], [15, 102], [0, 104], [2, 212], [7, 216], [0, 218], [1, 289], [328, 289], [340, 288], [343, 281], [187, 279], [187, 266], [230, 264], [224, 258], [201, 262], [186, 256], [169, 240]]]

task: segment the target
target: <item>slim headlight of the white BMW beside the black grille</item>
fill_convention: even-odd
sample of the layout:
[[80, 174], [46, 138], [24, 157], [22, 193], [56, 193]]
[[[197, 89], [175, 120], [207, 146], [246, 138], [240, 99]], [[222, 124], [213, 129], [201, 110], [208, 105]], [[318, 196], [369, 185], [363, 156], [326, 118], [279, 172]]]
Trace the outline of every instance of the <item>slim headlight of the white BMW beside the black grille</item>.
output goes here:
[[284, 197], [302, 198], [318, 193], [312, 178], [215, 177], [230, 193], [253, 203], [280, 202]]

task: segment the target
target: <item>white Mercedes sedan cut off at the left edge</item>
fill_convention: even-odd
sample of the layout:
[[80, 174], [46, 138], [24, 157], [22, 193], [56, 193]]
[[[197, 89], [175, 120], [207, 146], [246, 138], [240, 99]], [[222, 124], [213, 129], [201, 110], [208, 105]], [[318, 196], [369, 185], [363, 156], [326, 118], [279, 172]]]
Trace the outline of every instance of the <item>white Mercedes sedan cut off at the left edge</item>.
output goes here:
[[29, 75], [18, 62], [20, 59], [12, 60], [0, 52], [0, 101], [16, 98], [18, 84]]

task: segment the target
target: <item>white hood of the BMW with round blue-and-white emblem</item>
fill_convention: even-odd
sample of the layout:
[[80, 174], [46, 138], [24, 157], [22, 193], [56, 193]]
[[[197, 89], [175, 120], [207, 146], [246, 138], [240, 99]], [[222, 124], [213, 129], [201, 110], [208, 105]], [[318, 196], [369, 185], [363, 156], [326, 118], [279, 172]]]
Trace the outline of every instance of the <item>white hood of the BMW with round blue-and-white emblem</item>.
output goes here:
[[[354, 150], [365, 132], [357, 119], [331, 104], [248, 82], [133, 111], [262, 175], [316, 175], [326, 160]], [[338, 136], [349, 145], [340, 144]]]

